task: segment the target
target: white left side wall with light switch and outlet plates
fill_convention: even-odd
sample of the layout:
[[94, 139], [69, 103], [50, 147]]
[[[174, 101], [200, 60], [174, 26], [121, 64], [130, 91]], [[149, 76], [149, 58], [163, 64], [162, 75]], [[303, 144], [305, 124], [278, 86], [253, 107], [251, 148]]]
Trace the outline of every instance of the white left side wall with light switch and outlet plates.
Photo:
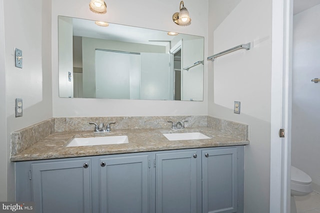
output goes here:
[[[5, 110], [2, 111], [1, 108], [0, 112], [1, 115], [6, 112], [6, 138], [1, 138], [0, 141], [1, 158], [2, 148], [5, 152], [5, 160], [0, 166], [0, 180], [4, 180], [4, 186], [2, 182], [0, 184], [0, 200], [14, 201], [14, 164], [9, 162], [10, 133], [52, 117], [51, 6], [50, 0], [1, 0], [0, 5], [2, 3], [3, 17], [0, 17], [0, 22], [3, 18], [4, 38], [1, 30], [0, 47], [4, 40], [5, 101], [2, 89], [0, 98], [4, 101], [1, 103], [5, 105]], [[22, 50], [22, 69], [14, 67], [15, 47]], [[1, 69], [2, 64], [1, 56]], [[4, 75], [1, 70], [1, 79], [2, 77]], [[14, 115], [17, 97], [23, 98], [23, 117], [19, 118]], [[1, 128], [1, 137], [2, 131]]]

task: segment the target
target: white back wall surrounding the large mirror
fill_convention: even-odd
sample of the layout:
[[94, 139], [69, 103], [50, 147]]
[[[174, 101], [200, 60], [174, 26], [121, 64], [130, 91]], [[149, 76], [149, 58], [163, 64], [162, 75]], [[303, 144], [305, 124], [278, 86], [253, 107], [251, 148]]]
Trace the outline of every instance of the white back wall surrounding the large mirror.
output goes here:
[[[189, 10], [192, 22], [187, 27], [173, 23], [172, 14], [179, 10], [179, 1], [106, 1], [106, 14], [95, 14], [88, 8], [87, 0], [52, 1], [52, 89], [53, 116], [143, 116], [143, 115], [206, 115], [207, 90], [204, 83], [204, 101], [151, 101], [151, 100], [110, 100], [110, 99], [70, 99], [58, 98], [57, 79], [57, 16], [108, 21], [152, 29], [176, 31], [205, 37], [207, 47], [207, 0], [188, 1], [184, 5]], [[70, 10], [69, 8], [72, 8]], [[125, 15], [123, 15], [125, 14]], [[138, 15], [143, 14], [143, 15]], [[128, 18], [129, 17], [129, 18]], [[148, 17], [147, 19], [145, 17]], [[83, 53], [82, 53], [83, 54]], [[206, 79], [206, 64], [204, 79]], [[130, 106], [130, 107], [128, 107]], [[94, 110], [92, 110], [94, 107]]]

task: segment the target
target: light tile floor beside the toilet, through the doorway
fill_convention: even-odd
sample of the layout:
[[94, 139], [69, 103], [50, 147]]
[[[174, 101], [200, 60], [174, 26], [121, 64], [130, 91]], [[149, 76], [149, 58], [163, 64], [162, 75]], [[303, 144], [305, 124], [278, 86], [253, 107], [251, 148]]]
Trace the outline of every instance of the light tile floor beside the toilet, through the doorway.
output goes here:
[[297, 213], [320, 213], [320, 194], [312, 192], [294, 197]]

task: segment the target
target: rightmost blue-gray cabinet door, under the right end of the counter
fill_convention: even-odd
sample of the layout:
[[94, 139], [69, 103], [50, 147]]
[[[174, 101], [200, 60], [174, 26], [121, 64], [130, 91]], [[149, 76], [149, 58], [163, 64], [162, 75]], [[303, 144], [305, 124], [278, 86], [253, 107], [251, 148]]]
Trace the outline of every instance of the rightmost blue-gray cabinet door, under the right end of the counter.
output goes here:
[[237, 212], [237, 149], [202, 150], [202, 212]]

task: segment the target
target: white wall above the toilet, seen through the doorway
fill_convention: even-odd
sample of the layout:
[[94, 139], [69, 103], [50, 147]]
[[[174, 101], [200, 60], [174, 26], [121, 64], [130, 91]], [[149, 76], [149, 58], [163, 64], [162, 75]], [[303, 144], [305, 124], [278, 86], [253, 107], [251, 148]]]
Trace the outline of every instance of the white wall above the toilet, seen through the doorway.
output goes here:
[[293, 16], [291, 162], [320, 192], [320, 4]]

